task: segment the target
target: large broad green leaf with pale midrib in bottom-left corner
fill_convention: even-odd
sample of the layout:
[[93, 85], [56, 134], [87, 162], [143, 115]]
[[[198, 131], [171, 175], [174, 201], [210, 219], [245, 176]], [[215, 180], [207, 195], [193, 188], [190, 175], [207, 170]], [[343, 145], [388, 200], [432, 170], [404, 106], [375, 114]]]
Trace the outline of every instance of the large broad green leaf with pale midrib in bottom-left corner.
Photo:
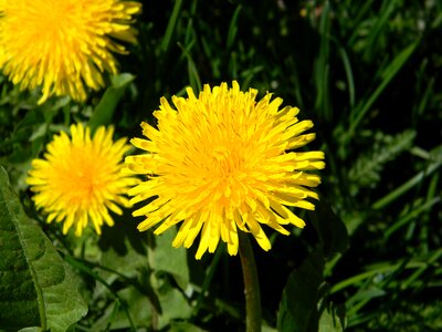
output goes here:
[[66, 331], [86, 312], [74, 277], [0, 166], [0, 328]]

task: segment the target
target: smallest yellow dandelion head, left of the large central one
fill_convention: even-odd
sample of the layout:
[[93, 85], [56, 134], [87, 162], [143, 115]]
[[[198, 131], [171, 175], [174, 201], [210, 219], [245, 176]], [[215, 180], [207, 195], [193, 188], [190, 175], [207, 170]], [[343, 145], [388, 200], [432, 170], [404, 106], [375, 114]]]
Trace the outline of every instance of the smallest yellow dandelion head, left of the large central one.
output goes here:
[[64, 222], [63, 234], [74, 226], [81, 236], [91, 222], [99, 235], [103, 224], [114, 225], [109, 210], [122, 215], [119, 206], [130, 207], [124, 196], [135, 178], [123, 170], [126, 138], [113, 142], [114, 129], [99, 127], [93, 138], [88, 127], [71, 126], [48, 144], [44, 159], [32, 160], [27, 183], [35, 193], [38, 208], [48, 222]]

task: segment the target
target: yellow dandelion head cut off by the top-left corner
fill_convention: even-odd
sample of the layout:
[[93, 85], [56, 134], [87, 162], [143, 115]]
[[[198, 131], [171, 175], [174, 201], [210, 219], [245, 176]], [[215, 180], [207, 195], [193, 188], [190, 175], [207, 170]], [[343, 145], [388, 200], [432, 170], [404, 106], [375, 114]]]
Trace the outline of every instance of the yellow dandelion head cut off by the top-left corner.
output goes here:
[[0, 68], [21, 89], [86, 98], [117, 72], [116, 40], [135, 42], [129, 23], [141, 4], [120, 0], [1, 0]]

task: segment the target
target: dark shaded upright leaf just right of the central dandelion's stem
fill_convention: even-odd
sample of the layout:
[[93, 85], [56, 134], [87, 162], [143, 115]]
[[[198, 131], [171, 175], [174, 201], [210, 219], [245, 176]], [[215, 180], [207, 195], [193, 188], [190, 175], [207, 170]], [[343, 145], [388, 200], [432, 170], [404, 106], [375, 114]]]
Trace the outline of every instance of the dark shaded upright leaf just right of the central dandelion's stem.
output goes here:
[[317, 331], [317, 302], [323, 271], [324, 259], [317, 250], [308, 256], [298, 270], [291, 273], [277, 314], [278, 331]]

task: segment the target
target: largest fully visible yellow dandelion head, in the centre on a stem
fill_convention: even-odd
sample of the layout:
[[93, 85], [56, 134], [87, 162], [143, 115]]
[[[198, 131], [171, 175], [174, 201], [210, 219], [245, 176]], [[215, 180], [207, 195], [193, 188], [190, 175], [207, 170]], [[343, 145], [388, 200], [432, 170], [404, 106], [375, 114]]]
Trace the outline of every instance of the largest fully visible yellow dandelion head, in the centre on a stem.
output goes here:
[[256, 102], [256, 90], [232, 85], [204, 85], [198, 97], [189, 87], [187, 98], [172, 97], [175, 108], [161, 98], [158, 129], [141, 123], [148, 139], [130, 141], [147, 153], [126, 157], [129, 169], [146, 176], [129, 190], [130, 201], [151, 199], [133, 214], [146, 216], [138, 229], [161, 222], [159, 235], [183, 221], [172, 246], [189, 248], [201, 231], [197, 259], [220, 239], [236, 255], [239, 230], [269, 250], [262, 225], [284, 235], [283, 225], [304, 227], [287, 207], [314, 209], [308, 198], [318, 196], [308, 187], [320, 178], [308, 170], [325, 166], [323, 152], [296, 151], [315, 138], [303, 134], [313, 123], [298, 122], [298, 108], [280, 110], [283, 101], [270, 93]]

